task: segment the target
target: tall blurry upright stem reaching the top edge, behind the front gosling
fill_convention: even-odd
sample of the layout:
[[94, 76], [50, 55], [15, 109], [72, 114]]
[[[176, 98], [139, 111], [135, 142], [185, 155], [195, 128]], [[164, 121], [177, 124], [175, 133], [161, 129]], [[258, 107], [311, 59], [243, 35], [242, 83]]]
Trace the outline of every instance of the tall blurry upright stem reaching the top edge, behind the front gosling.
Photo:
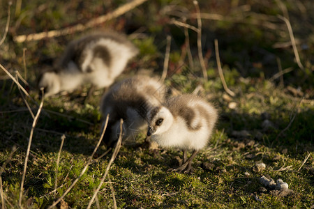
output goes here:
[[196, 13], [197, 13], [197, 51], [198, 57], [200, 59], [200, 65], [202, 67], [203, 76], [205, 82], [208, 82], [207, 70], [204, 62], [203, 52], [202, 52], [202, 19], [200, 17], [200, 7], [198, 6], [198, 1], [193, 1]]

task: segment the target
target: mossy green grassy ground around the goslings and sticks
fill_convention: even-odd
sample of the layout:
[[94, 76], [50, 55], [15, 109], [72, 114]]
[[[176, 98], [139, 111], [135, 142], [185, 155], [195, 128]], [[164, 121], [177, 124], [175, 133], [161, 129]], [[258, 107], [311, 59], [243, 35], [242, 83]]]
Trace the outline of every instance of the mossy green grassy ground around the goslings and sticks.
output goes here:
[[[21, 34], [85, 23], [126, 3], [105, 2], [34, 0], [22, 1], [21, 7], [13, 3], [8, 36], [0, 45], [0, 63], [13, 76], [17, 70], [27, 79], [28, 84], [19, 80], [33, 98], [26, 99], [33, 114], [38, 110], [36, 102], [40, 103], [34, 87], [38, 72], [61, 54], [68, 40], [80, 33], [22, 43], [13, 39]], [[179, 150], [149, 150], [143, 146], [144, 134], [127, 141], [92, 207], [112, 208], [117, 204], [119, 208], [313, 208], [314, 28], [311, 22], [314, 11], [311, 5], [311, 1], [200, 1], [202, 13], [216, 14], [202, 16], [208, 82], [202, 79], [196, 33], [188, 31], [191, 65], [184, 45], [184, 28], [170, 23], [173, 18], [182, 22], [178, 16], [194, 13], [192, 2], [146, 2], [101, 24], [100, 28], [133, 33], [133, 42], [140, 48], [140, 55], [119, 79], [144, 72], [161, 75], [166, 35], [170, 35], [167, 86], [188, 93], [202, 86], [200, 95], [216, 105], [220, 118], [209, 146], [195, 158], [191, 174], [167, 171], [179, 164]], [[2, 38], [8, 5], [1, 1], [0, 6]], [[278, 15], [288, 17], [287, 14], [303, 67], [296, 63], [287, 26], [278, 18]], [[193, 18], [187, 22], [197, 26]], [[215, 38], [219, 42], [225, 80], [234, 97], [225, 93], [218, 75]], [[276, 77], [281, 68], [287, 73]], [[5, 208], [18, 208], [33, 118], [17, 85], [2, 70], [0, 76], [0, 203]], [[86, 91], [85, 86], [75, 93], [44, 101], [33, 133], [22, 207], [50, 206], [80, 176], [89, 161], [99, 139], [98, 107], [102, 92], [96, 91], [83, 104], [82, 92]], [[62, 134], [66, 139], [57, 169]], [[104, 145], [98, 148], [95, 161], [58, 207], [88, 205], [110, 162], [111, 153], [97, 158], [105, 150]], [[264, 169], [255, 167], [260, 162], [266, 165]], [[293, 193], [283, 196], [270, 189], [263, 191], [261, 176], [281, 178]]]

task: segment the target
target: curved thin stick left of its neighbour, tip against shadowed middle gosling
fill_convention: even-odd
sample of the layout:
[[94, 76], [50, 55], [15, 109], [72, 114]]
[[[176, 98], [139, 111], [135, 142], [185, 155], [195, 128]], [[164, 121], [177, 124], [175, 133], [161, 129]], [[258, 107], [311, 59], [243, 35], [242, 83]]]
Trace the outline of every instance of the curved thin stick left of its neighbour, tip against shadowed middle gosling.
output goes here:
[[80, 180], [80, 178], [82, 178], [82, 176], [84, 175], [85, 171], [87, 171], [87, 168], [89, 167], [89, 165], [93, 161], [94, 154], [98, 150], [98, 147], [99, 147], [101, 141], [103, 140], [103, 135], [105, 134], [105, 130], [107, 128], [108, 120], [109, 120], [109, 114], [107, 114], [105, 126], [103, 127], [103, 132], [101, 133], [100, 139], [98, 140], [98, 143], [97, 143], [96, 147], [94, 148], [93, 153], [91, 153], [91, 156], [89, 157], [89, 160], [87, 161], [87, 164], [85, 165], [85, 167], [82, 169], [80, 175], [73, 181], [73, 183], [70, 185], [70, 187], [68, 187], [68, 189], [66, 189], [66, 191], [59, 197], [59, 199], [57, 199], [57, 201], [54, 201], [54, 203], [52, 203], [52, 205], [48, 207], [48, 209], [49, 208], [53, 208], [54, 206], [57, 206], [57, 204], [63, 199], [63, 197], [66, 196], [66, 194], [68, 194], [68, 192], [70, 192], [70, 190], [75, 186], [77, 181]]

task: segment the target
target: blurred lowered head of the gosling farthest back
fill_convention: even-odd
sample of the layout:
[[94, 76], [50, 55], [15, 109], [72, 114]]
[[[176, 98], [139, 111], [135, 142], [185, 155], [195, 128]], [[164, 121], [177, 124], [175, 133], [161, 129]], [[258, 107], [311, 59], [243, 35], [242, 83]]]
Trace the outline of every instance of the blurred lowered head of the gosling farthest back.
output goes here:
[[38, 89], [41, 88], [43, 88], [45, 98], [59, 93], [60, 81], [57, 73], [54, 71], [43, 72], [38, 78]]

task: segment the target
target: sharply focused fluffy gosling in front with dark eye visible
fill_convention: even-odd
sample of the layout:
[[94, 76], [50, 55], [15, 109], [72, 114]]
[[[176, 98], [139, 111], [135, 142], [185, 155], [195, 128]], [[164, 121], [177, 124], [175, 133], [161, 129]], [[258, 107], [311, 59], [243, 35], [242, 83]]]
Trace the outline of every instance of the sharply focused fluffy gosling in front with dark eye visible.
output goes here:
[[[213, 105], [197, 95], [178, 95], [149, 111], [147, 136], [163, 148], [181, 148], [182, 164], [172, 171], [189, 173], [193, 158], [207, 145], [217, 117]], [[193, 150], [188, 159], [187, 150]]]

